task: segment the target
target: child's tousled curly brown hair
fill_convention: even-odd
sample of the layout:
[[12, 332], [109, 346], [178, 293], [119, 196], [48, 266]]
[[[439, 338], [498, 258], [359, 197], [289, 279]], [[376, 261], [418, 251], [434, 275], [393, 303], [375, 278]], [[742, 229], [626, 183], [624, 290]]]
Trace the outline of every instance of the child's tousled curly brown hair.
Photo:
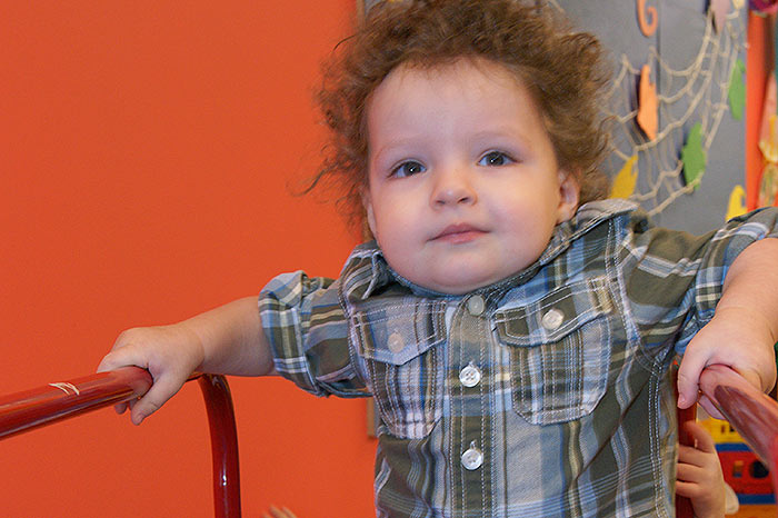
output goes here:
[[[528, 4], [529, 3], [529, 4]], [[502, 64], [526, 84], [543, 114], [559, 166], [577, 176], [580, 202], [604, 198], [598, 169], [608, 133], [599, 103], [610, 76], [590, 33], [551, 8], [519, 0], [385, 0], [325, 63], [318, 101], [330, 130], [325, 159], [307, 191], [335, 182], [349, 221], [361, 221], [367, 188], [367, 107], [401, 63], [433, 68], [459, 58]]]

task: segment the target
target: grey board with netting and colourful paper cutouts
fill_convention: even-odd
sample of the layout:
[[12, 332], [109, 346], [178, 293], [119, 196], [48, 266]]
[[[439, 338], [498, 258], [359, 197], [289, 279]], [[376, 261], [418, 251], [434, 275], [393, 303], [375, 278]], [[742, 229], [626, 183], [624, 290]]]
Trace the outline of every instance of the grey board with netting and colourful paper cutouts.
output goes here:
[[[745, 211], [737, 185], [745, 162], [742, 3], [546, 1], [620, 51], [604, 108], [614, 121], [605, 163], [611, 195], [639, 202], [661, 225], [695, 232]], [[646, 18], [656, 33], [639, 30]], [[650, 117], [638, 120], [641, 109], [654, 111], [654, 128]]]

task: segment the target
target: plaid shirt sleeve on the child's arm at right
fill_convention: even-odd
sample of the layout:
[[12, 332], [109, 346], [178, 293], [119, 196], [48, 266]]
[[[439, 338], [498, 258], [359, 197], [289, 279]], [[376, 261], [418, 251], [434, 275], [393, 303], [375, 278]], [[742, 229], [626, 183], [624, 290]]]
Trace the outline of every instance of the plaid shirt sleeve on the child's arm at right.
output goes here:
[[705, 236], [648, 228], [632, 217], [621, 262], [632, 316], [649, 350], [674, 345], [684, 353], [714, 317], [724, 280], [749, 245], [778, 237], [778, 210], [761, 209], [729, 220]]

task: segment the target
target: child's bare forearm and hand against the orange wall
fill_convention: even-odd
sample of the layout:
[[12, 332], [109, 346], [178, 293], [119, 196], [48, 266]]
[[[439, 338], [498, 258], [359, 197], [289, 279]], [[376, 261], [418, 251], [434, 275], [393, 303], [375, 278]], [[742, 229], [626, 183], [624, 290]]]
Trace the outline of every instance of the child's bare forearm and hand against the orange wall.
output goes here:
[[[98, 371], [126, 366], [148, 369], [153, 378], [149, 391], [130, 404], [136, 425], [178, 392], [196, 370], [238, 376], [275, 373], [256, 296], [171, 326], [122, 332]], [[126, 409], [126, 405], [117, 406], [120, 414]]]

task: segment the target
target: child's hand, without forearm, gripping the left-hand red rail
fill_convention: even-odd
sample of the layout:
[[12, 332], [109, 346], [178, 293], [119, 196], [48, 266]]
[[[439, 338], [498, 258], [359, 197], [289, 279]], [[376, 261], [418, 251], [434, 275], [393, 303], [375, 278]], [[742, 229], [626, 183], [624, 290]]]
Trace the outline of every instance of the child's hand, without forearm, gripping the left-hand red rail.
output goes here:
[[116, 406], [118, 414], [129, 407], [132, 422], [140, 425], [179, 391], [203, 356], [198, 335], [183, 323], [133, 328], [119, 335], [98, 372], [137, 366], [151, 373], [153, 385], [143, 397]]

